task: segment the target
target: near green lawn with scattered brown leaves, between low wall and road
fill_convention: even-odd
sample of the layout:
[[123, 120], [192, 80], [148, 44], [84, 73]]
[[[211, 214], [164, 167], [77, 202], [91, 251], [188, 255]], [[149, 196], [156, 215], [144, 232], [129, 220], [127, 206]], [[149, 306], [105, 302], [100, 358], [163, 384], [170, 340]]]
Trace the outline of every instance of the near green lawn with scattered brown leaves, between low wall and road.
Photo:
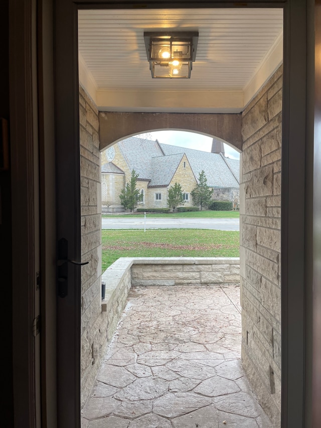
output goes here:
[[209, 229], [103, 230], [102, 271], [119, 257], [239, 257], [239, 236]]

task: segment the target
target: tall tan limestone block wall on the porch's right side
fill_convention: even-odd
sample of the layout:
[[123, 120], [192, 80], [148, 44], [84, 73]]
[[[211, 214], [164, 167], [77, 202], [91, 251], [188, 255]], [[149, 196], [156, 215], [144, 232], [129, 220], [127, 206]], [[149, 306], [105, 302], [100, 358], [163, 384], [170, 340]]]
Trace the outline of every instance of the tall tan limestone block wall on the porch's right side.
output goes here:
[[273, 425], [281, 408], [282, 68], [242, 114], [240, 275], [242, 364]]

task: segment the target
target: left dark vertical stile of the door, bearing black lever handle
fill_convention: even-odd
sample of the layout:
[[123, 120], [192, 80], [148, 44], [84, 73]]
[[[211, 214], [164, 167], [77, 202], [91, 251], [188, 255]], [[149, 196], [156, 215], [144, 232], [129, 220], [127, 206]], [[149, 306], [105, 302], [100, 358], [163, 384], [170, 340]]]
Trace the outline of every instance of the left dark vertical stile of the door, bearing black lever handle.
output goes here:
[[[80, 427], [80, 146], [77, 8], [56, 2], [57, 407]], [[60, 244], [59, 244], [60, 242]]]

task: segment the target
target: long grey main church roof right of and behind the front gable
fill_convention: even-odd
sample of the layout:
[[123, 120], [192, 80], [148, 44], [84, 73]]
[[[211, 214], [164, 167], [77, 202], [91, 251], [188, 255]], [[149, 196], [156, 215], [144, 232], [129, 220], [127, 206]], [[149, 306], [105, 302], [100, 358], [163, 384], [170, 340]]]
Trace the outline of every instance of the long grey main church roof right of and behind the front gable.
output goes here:
[[[232, 174], [229, 165], [220, 154], [201, 152], [194, 149], [182, 149], [177, 146], [169, 146], [167, 144], [159, 143], [165, 155], [173, 155], [175, 153], [186, 154], [186, 157], [191, 165], [196, 179], [198, 180], [199, 174], [202, 170], [205, 172], [207, 178], [207, 185], [210, 187], [238, 187], [239, 182]], [[238, 161], [236, 161], [238, 162]], [[236, 165], [234, 165], [236, 169]], [[234, 170], [233, 170], [234, 172]], [[239, 176], [239, 173], [236, 177]]]

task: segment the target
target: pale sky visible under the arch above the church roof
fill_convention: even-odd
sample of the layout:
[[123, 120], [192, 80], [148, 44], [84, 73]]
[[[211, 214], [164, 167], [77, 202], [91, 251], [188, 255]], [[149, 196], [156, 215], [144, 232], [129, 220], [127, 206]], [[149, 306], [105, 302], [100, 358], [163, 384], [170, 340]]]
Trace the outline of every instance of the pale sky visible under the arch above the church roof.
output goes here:
[[[154, 131], [148, 135], [142, 134], [147, 139], [155, 140], [172, 146], [185, 147], [186, 149], [201, 150], [203, 152], [211, 152], [212, 137], [198, 134], [195, 132], [186, 131]], [[151, 135], [151, 138], [150, 138]], [[225, 156], [230, 159], [240, 159], [240, 154], [224, 143]]]

